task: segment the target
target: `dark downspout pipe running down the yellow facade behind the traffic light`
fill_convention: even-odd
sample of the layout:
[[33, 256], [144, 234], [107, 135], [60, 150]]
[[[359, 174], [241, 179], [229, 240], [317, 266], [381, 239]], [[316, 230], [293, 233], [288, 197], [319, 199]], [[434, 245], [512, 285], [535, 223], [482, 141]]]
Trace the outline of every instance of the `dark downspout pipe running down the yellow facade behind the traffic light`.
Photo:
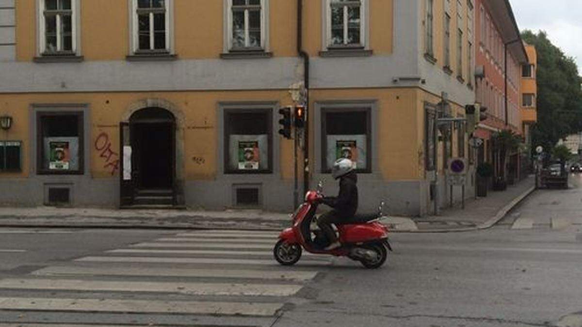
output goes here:
[[297, 0], [297, 53], [303, 59], [303, 86], [306, 90], [306, 123], [303, 129], [303, 194], [309, 190], [309, 55], [303, 49], [303, 0]]

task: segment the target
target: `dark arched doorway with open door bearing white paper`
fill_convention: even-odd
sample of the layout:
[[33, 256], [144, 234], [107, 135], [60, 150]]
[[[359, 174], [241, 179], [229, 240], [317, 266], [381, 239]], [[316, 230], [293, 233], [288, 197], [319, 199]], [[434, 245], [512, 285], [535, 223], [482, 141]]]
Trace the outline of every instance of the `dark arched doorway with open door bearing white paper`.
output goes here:
[[122, 123], [121, 133], [121, 205], [175, 205], [174, 115], [162, 108], [140, 109]]

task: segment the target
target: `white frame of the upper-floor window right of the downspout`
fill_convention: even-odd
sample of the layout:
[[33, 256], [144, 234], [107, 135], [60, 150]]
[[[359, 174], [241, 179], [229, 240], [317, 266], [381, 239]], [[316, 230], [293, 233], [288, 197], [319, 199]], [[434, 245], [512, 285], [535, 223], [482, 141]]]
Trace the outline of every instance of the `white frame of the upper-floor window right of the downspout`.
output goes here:
[[[323, 6], [323, 12], [325, 15], [325, 19], [323, 20], [324, 22], [324, 26], [323, 26], [323, 30], [324, 30], [324, 37], [323, 37], [323, 44], [322, 44], [322, 48], [324, 49], [328, 49], [328, 50], [333, 50], [333, 49], [341, 49], [341, 48], [347, 48], [347, 49], [360, 49], [363, 48], [365, 50], [370, 49], [370, 42], [368, 40], [368, 35], [370, 33], [368, 33], [368, 29], [369, 29], [369, 24], [368, 24], [368, 17], [370, 15], [370, 8], [369, 8], [369, 0], [350, 0], [347, 1], [347, 3], [349, 2], [360, 2], [360, 44], [345, 44], [345, 41], [347, 40], [347, 38], [344, 38], [344, 45], [337, 45], [337, 44], [331, 44], [331, 3], [332, 0], [322, 0], [322, 6]], [[347, 4], [346, 3], [346, 4]], [[347, 15], [347, 7], [344, 8], [343, 11], [343, 17], [344, 17], [344, 27], [343, 27], [343, 33], [344, 35], [347, 35], [347, 20], [346, 20], [346, 15]]]

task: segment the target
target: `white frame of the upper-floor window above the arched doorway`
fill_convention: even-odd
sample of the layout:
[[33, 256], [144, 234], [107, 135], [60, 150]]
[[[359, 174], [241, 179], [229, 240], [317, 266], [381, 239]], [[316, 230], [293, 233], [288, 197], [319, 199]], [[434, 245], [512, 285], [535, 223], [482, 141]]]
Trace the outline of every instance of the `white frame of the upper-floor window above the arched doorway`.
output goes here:
[[[137, 0], [128, 0], [129, 1], [129, 22], [130, 22], [130, 29], [129, 29], [129, 40], [130, 44], [132, 45], [130, 51], [131, 55], [134, 54], [155, 54], [155, 53], [174, 53], [174, 42], [173, 42], [173, 26], [174, 26], [174, 1], [173, 0], [165, 0], [166, 6], [166, 16], [165, 16], [165, 23], [166, 23], [166, 48], [165, 49], [155, 49], [155, 50], [144, 50], [139, 48], [139, 18], [137, 17]], [[154, 29], [153, 23], [153, 16], [150, 15], [150, 33]], [[152, 38], [154, 34], [150, 34], [150, 43], [152, 42]]]

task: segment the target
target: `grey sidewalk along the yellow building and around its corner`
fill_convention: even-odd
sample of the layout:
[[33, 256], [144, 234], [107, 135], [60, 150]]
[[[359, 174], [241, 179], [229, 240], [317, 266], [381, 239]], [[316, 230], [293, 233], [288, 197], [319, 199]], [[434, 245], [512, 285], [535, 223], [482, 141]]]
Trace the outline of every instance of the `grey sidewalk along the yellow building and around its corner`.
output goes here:
[[[529, 177], [503, 192], [469, 200], [465, 209], [445, 209], [428, 218], [382, 219], [395, 232], [460, 232], [493, 226], [533, 191]], [[166, 228], [281, 230], [291, 225], [289, 214], [260, 210], [145, 210], [94, 208], [0, 208], [0, 227], [14, 228]]]

